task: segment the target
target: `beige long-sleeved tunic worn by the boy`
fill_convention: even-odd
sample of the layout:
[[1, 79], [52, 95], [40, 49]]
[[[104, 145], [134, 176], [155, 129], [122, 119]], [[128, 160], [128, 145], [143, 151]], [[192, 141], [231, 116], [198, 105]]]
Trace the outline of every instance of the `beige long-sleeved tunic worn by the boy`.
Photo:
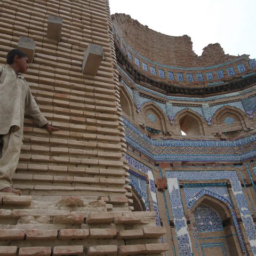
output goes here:
[[0, 134], [7, 134], [14, 126], [15, 135], [22, 139], [25, 111], [39, 127], [48, 123], [24, 77], [17, 77], [10, 65], [0, 66]]

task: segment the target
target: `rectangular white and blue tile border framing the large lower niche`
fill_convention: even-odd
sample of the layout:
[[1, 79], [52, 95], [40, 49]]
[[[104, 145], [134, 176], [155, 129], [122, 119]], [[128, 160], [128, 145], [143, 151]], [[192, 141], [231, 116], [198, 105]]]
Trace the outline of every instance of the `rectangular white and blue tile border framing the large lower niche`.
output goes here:
[[[238, 206], [239, 212], [242, 217], [243, 226], [245, 228], [251, 250], [253, 255], [256, 255], [256, 229], [253, 223], [252, 215], [247, 205], [246, 198], [243, 194], [241, 184], [237, 177], [236, 171], [166, 171], [167, 186], [170, 195], [170, 203], [173, 211], [174, 226], [178, 237], [180, 255], [189, 255], [192, 256], [192, 245], [189, 238], [187, 222], [185, 218], [185, 213], [183, 210], [183, 205], [181, 201], [179, 180], [223, 180], [229, 179], [232, 187], [233, 194], [236, 199], [236, 204]], [[209, 190], [202, 192], [202, 195], [207, 193]], [[201, 194], [201, 193], [200, 193]], [[211, 194], [211, 193], [210, 193]], [[198, 198], [195, 198], [195, 202], [202, 195], [197, 195]], [[213, 196], [213, 195], [211, 195]], [[215, 195], [218, 199], [222, 199], [221, 196]], [[225, 198], [224, 198], [225, 199]], [[226, 199], [225, 199], [226, 200]], [[230, 207], [231, 204], [229, 203]], [[231, 211], [233, 220], [236, 219], [235, 212]], [[236, 221], [237, 222], [237, 221]], [[237, 226], [238, 223], [235, 223]], [[241, 231], [240, 231], [241, 232]], [[239, 229], [237, 230], [238, 237], [242, 234], [239, 234]], [[242, 250], [245, 250], [245, 246], [239, 237], [239, 242], [241, 243]], [[246, 255], [246, 254], [245, 254]]]

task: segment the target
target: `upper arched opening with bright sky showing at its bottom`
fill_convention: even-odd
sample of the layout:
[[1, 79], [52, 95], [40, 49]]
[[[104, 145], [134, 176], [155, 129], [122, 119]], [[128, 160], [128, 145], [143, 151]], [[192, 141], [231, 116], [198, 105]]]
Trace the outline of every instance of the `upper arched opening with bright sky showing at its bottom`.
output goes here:
[[204, 135], [202, 117], [191, 109], [183, 109], [176, 118], [179, 121], [180, 131], [187, 136]]

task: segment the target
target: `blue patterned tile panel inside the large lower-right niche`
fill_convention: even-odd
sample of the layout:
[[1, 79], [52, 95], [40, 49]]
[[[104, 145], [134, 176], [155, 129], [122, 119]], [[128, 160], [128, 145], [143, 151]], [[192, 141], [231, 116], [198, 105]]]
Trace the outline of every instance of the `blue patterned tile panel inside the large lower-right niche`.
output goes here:
[[195, 209], [194, 216], [197, 232], [223, 230], [222, 220], [219, 213], [208, 205], [198, 205]]

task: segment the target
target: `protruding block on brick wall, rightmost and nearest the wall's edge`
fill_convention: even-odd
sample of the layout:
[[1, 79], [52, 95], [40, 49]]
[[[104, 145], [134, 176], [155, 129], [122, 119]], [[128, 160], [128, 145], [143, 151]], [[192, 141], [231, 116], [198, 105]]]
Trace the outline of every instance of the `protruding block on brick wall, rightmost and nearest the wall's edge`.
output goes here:
[[82, 71], [86, 75], [95, 76], [103, 59], [103, 47], [101, 45], [89, 44], [84, 53]]

